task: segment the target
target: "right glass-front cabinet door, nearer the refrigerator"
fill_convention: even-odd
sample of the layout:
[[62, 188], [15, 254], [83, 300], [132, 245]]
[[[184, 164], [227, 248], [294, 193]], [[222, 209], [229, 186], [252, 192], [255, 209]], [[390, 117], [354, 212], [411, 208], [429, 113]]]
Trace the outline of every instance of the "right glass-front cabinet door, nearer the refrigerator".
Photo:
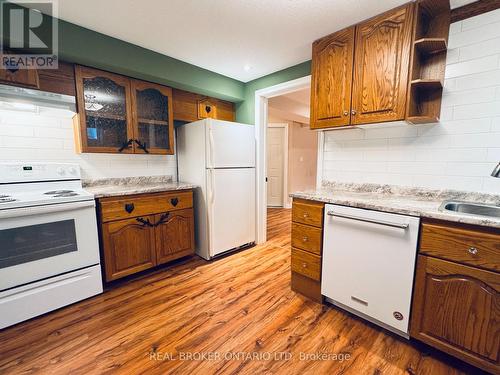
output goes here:
[[136, 153], [173, 154], [172, 89], [132, 80]]

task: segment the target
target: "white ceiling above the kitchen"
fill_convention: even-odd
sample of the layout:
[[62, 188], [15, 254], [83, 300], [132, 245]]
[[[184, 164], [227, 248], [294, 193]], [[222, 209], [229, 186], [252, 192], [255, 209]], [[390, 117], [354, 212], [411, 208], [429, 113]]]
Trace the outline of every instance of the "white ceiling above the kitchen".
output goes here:
[[59, 18], [247, 82], [309, 60], [315, 39], [407, 1], [60, 0]]

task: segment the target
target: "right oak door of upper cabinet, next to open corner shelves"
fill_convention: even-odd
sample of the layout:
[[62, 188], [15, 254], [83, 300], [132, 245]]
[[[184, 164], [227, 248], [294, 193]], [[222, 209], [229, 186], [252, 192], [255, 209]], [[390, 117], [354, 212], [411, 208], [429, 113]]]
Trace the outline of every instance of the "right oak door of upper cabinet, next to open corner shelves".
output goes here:
[[405, 118], [412, 27], [412, 3], [357, 26], [352, 124]]

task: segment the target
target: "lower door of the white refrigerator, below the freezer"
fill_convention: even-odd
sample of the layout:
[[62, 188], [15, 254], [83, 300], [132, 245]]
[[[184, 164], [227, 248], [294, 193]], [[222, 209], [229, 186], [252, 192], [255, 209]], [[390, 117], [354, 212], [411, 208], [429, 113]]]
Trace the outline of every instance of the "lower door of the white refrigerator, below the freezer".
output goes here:
[[210, 256], [255, 241], [255, 169], [207, 170]]

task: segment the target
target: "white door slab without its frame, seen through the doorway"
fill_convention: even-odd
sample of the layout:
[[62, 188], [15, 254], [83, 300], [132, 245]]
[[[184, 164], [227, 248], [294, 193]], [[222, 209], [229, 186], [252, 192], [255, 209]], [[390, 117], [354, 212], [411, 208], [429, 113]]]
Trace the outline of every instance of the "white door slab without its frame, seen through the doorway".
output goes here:
[[285, 128], [267, 128], [267, 205], [283, 207]]

